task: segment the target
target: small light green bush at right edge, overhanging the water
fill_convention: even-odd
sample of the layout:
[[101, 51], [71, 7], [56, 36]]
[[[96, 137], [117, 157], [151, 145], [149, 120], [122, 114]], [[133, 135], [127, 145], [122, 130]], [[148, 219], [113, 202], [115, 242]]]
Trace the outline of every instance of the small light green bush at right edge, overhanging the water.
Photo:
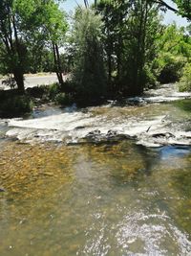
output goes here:
[[180, 92], [191, 91], [191, 63], [185, 65], [183, 75], [179, 83]]

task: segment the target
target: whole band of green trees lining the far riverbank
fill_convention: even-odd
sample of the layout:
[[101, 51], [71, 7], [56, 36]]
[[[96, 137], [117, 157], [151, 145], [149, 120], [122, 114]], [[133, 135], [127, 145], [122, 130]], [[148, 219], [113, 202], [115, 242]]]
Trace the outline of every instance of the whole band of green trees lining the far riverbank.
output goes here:
[[55, 72], [63, 104], [138, 95], [159, 82], [191, 90], [190, 26], [166, 26], [160, 15], [169, 9], [190, 21], [189, 1], [174, 2], [177, 9], [162, 0], [84, 1], [67, 21], [60, 1], [2, 0], [0, 74], [23, 95], [25, 73]]

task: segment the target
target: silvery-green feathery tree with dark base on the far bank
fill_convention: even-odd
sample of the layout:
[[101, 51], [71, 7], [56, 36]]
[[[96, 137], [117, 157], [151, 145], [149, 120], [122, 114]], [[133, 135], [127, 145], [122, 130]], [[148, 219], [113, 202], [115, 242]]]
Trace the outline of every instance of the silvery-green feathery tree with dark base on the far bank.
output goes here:
[[75, 99], [81, 104], [94, 104], [106, 91], [101, 17], [92, 10], [78, 9], [74, 21]]

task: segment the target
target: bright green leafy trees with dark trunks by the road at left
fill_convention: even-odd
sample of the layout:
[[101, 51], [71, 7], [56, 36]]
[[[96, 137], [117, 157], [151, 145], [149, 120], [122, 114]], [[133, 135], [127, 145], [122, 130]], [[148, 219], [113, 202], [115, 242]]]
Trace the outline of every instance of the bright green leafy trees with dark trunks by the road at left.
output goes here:
[[[39, 54], [52, 42], [55, 70], [62, 82], [58, 43], [67, 29], [64, 13], [53, 0], [2, 0], [0, 2], [0, 52], [2, 72], [12, 73], [24, 93], [24, 73], [30, 52]], [[38, 51], [37, 51], [38, 50]], [[33, 52], [33, 53], [34, 53]]]

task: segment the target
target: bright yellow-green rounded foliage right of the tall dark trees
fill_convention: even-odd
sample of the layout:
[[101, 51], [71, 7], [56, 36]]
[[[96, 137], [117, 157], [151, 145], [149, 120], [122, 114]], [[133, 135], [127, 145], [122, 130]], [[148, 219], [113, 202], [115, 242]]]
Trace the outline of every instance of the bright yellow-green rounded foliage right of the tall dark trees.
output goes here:
[[189, 35], [176, 24], [163, 29], [159, 38], [159, 54], [155, 65], [158, 79], [162, 83], [179, 81], [182, 68], [191, 58], [191, 43]]

